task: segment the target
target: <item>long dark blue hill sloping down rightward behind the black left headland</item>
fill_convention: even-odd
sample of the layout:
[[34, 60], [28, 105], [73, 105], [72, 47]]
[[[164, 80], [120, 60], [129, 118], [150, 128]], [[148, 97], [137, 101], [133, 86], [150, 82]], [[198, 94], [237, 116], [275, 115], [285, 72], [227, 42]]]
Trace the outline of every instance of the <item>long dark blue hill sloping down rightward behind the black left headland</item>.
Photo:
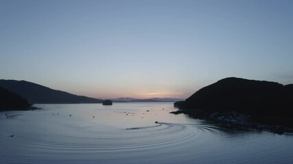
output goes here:
[[103, 100], [69, 94], [28, 81], [0, 80], [0, 87], [26, 98], [30, 103], [102, 103]]

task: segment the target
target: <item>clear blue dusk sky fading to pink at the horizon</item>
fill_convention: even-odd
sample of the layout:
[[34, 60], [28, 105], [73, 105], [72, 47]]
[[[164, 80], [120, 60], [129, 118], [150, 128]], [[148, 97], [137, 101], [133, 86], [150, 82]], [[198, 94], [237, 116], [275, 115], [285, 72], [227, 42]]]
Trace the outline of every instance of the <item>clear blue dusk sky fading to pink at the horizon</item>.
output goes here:
[[293, 1], [0, 0], [0, 79], [94, 98], [293, 83]]

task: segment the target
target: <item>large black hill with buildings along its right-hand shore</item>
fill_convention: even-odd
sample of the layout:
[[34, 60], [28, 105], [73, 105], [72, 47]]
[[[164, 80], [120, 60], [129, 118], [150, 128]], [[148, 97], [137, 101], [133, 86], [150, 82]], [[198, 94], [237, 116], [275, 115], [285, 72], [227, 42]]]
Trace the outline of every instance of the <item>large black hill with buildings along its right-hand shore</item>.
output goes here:
[[229, 126], [292, 132], [293, 85], [229, 77], [174, 103], [178, 111], [194, 118]]

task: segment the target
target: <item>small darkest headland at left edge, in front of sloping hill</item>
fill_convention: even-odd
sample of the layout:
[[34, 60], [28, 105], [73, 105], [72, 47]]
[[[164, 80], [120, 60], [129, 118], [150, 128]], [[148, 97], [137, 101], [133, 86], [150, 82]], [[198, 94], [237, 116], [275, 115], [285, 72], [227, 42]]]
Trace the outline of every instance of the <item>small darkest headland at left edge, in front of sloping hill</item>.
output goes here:
[[14, 109], [23, 110], [31, 106], [32, 105], [30, 105], [25, 98], [0, 87], [0, 111]]

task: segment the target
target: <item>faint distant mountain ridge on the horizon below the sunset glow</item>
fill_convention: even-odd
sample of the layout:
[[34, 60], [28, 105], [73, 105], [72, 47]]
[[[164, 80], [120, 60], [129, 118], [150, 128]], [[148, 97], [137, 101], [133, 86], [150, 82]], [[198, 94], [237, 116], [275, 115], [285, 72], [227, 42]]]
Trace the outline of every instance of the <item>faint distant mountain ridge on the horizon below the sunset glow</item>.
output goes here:
[[180, 98], [146, 98], [146, 99], [140, 99], [140, 98], [114, 98], [112, 99], [114, 102], [176, 102], [183, 99]]

